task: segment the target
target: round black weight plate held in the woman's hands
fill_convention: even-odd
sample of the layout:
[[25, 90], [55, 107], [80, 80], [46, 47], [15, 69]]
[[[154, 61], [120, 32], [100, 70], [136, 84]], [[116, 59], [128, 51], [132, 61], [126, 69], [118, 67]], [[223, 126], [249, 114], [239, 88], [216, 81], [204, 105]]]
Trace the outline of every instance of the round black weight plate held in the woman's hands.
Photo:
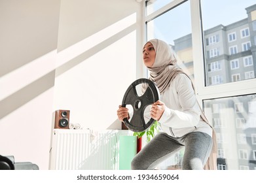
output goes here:
[[[137, 95], [136, 86], [138, 84], [148, 84], [147, 89], [143, 95]], [[122, 99], [122, 107], [126, 107], [126, 105], [132, 105], [134, 109], [134, 114], [132, 118], [128, 120], [124, 118], [124, 124], [128, 129], [135, 132], [145, 131], [155, 122], [153, 118], [149, 120], [149, 122], [145, 123], [144, 120], [144, 111], [145, 108], [156, 101], [158, 101], [158, 88], [156, 88], [155, 83], [146, 78], [140, 78], [134, 81], [124, 93], [124, 98]]]

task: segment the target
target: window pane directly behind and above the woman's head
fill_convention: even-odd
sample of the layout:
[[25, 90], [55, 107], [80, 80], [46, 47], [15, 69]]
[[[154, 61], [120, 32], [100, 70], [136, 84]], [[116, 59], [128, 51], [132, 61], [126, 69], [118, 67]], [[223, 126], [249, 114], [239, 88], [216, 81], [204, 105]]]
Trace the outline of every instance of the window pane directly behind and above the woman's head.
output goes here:
[[[180, 24], [181, 22], [183, 23]], [[191, 78], [194, 78], [189, 1], [185, 1], [185, 3], [147, 22], [147, 40], [150, 39], [161, 39], [168, 42], [177, 54], [179, 67]], [[217, 40], [218, 38], [214, 37], [211, 42]], [[214, 56], [217, 54], [217, 50], [213, 50], [211, 54]]]

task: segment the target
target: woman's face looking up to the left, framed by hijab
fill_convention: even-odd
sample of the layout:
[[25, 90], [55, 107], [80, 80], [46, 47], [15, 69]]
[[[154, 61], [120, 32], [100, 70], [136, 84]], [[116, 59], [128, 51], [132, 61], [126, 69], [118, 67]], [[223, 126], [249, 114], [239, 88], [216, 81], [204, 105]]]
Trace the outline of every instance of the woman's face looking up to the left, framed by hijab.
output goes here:
[[156, 52], [153, 44], [147, 42], [143, 48], [143, 61], [146, 67], [152, 67], [155, 62]]

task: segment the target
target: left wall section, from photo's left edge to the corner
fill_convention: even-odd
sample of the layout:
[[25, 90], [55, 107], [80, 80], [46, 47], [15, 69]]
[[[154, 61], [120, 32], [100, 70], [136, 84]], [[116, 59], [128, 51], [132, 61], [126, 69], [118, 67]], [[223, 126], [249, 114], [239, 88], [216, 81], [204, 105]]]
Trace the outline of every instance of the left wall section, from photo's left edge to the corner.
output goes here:
[[60, 0], [0, 1], [0, 154], [48, 169]]

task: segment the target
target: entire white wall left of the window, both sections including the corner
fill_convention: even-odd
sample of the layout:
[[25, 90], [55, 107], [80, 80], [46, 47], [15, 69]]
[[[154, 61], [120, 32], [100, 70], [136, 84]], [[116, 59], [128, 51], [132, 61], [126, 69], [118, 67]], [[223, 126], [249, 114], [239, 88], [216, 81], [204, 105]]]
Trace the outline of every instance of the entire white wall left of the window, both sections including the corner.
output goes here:
[[48, 169], [57, 109], [71, 110], [71, 122], [85, 128], [119, 127], [122, 96], [142, 77], [141, 6], [0, 1], [1, 155]]

